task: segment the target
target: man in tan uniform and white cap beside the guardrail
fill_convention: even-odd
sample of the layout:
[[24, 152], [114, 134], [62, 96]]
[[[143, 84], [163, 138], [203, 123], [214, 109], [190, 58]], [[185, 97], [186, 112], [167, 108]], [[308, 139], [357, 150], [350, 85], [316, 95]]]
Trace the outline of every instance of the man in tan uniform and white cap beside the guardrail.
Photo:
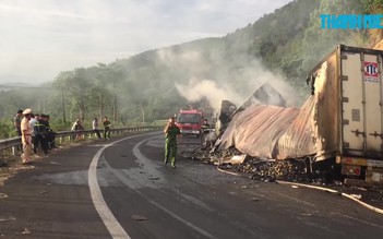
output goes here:
[[23, 154], [21, 156], [23, 164], [32, 163], [32, 129], [29, 126], [32, 110], [29, 108], [23, 111], [24, 118], [21, 121]]

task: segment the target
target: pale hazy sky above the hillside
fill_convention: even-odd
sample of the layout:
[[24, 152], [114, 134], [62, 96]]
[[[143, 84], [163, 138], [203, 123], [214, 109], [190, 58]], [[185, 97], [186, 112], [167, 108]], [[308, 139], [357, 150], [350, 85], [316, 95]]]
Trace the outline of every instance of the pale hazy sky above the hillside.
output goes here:
[[0, 83], [228, 33], [291, 0], [0, 0]]

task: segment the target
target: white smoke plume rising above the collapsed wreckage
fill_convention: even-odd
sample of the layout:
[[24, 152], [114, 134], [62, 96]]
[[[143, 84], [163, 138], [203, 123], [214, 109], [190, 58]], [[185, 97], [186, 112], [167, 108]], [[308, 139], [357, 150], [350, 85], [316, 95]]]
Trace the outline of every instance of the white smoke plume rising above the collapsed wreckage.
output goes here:
[[268, 83], [285, 98], [287, 106], [296, 105], [295, 89], [283, 77], [266, 70], [256, 59], [240, 56], [230, 63], [218, 50], [212, 49], [207, 55], [194, 49], [185, 50], [185, 47], [182, 49], [161, 49], [158, 58], [168, 67], [189, 73], [187, 83], [175, 84], [179, 94], [190, 103], [206, 98], [215, 110], [219, 109], [224, 99], [240, 106], [259, 87]]

